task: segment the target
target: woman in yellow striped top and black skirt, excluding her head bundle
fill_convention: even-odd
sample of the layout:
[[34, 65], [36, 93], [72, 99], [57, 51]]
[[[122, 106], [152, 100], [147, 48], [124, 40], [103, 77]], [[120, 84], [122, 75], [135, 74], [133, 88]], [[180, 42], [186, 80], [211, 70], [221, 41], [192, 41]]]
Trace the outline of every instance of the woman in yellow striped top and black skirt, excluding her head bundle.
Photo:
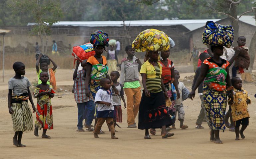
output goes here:
[[172, 124], [167, 111], [165, 100], [168, 98], [164, 83], [161, 79], [162, 67], [158, 62], [158, 51], [147, 51], [149, 59], [142, 65], [140, 74], [144, 91], [139, 107], [138, 128], [145, 129], [145, 139], [150, 139], [148, 129], [162, 128], [162, 138], [174, 134], [166, 132], [166, 126]]

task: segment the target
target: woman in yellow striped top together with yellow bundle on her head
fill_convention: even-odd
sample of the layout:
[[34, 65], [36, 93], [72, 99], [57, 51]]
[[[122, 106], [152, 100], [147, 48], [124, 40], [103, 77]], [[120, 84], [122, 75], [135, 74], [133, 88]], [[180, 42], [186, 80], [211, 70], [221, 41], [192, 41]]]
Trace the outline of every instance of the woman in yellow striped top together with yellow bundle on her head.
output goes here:
[[133, 41], [132, 47], [137, 52], [146, 51], [145, 62], [141, 67], [144, 91], [139, 106], [138, 129], [145, 130], [144, 139], [150, 139], [148, 129], [162, 128], [162, 138], [171, 137], [174, 133], [166, 131], [173, 124], [166, 107], [168, 94], [161, 78], [162, 66], [159, 51], [170, 49], [168, 36], [156, 29], [141, 32]]

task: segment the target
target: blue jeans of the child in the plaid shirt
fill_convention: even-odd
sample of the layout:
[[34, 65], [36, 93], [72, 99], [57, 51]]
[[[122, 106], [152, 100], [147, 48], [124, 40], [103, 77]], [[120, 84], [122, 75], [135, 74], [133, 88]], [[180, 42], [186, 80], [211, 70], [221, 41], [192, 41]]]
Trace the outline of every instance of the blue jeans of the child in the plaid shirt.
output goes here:
[[83, 128], [83, 112], [85, 110], [85, 107], [87, 107], [87, 110], [88, 110], [86, 125], [91, 125], [93, 117], [94, 117], [94, 113], [95, 113], [94, 101], [89, 100], [88, 102], [77, 103], [77, 109], [78, 109], [77, 128], [78, 129]]

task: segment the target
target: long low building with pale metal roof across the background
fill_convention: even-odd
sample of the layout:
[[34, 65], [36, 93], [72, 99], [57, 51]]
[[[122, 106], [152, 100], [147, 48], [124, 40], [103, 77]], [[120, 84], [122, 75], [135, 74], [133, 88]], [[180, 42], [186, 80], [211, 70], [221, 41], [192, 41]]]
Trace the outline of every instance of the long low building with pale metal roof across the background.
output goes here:
[[[251, 37], [255, 31], [253, 16], [242, 16], [239, 20], [239, 34], [247, 38], [249, 46]], [[143, 30], [155, 28], [164, 31], [175, 41], [172, 52], [191, 49], [196, 46], [200, 51], [205, 49], [202, 44], [202, 32], [207, 21], [230, 25], [229, 18], [206, 19], [206, 20], [150, 20], [150, 21], [125, 21], [129, 36], [125, 35], [122, 21], [99, 21], [99, 22], [59, 22], [51, 27], [51, 35], [48, 36], [48, 52], [52, 51], [51, 41], [56, 40], [58, 51], [70, 53], [72, 46], [89, 42], [89, 37], [94, 31], [101, 29], [108, 33], [109, 38], [118, 39], [121, 43], [120, 54], [125, 53], [125, 46], [130, 45], [135, 37]], [[5, 27], [11, 30], [5, 36], [6, 53], [34, 53], [34, 42], [40, 41], [38, 36], [31, 36], [30, 31], [33, 23], [21, 27]], [[0, 39], [0, 45], [2, 41]], [[41, 43], [39, 43], [41, 46]], [[0, 47], [0, 51], [2, 48]]]

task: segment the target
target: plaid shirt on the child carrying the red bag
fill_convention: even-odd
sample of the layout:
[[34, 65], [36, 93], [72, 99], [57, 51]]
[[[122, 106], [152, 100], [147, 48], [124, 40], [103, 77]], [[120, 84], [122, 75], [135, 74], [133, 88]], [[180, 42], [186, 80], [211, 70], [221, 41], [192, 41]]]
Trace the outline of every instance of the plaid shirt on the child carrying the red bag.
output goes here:
[[75, 102], [76, 103], [84, 103], [88, 102], [89, 100], [92, 100], [91, 97], [87, 97], [85, 94], [85, 81], [82, 80], [83, 74], [86, 73], [83, 69], [77, 71], [75, 81]]

